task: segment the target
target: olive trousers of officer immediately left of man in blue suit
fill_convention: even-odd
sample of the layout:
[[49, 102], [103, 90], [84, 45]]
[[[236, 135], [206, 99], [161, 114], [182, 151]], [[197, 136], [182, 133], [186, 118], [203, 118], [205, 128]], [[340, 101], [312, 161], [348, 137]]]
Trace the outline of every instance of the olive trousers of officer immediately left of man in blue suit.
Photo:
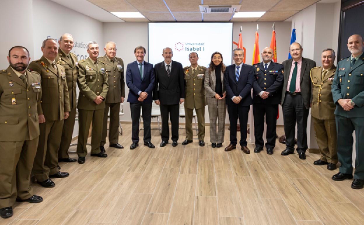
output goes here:
[[102, 137], [101, 146], [106, 143], [107, 135], [107, 116], [110, 108], [110, 122], [109, 122], [109, 144], [116, 144], [119, 142], [119, 113], [120, 113], [120, 102], [119, 103], [106, 103], [104, 112], [104, 121], [102, 126]]

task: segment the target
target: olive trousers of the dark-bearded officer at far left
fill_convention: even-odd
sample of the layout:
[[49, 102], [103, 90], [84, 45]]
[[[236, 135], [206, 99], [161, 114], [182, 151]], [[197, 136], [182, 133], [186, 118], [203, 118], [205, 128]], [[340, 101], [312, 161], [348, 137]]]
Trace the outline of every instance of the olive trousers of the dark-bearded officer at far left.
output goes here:
[[30, 174], [38, 137], [27, 141], [0, 141], [0, 208], [13, 206], [16, 198], [32, 197]]

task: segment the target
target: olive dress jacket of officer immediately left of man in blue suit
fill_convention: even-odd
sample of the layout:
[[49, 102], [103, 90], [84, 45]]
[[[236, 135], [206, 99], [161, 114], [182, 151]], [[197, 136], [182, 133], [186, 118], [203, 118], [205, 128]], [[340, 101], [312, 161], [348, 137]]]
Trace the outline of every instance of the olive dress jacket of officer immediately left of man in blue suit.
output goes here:
[[125, 79], [124, 79], [124, 62], [118, 57], [114, 57], [114, 62], [105, 54], [99, 57], [98, 61], [105, 63], [105, 71], [109, 84], [109, 91], [106, 97], [106, 103], [121, 102], [121, 97], [125, 97]]

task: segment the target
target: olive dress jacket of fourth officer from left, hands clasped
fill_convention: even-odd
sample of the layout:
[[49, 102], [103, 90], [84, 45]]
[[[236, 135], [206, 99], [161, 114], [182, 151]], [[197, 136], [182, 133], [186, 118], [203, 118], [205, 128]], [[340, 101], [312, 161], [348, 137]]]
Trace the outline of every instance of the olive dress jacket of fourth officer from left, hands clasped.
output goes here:
[[90, 58], [78, 62], [78, 88], [80, 94], [77, 108], [84, 110], [98, 110], [105, 108], [105, 101], [99, 105], [94, 102], [97, 96], [106, 99], [109, 85], [105, 64], [98, 60], [98, 68]]

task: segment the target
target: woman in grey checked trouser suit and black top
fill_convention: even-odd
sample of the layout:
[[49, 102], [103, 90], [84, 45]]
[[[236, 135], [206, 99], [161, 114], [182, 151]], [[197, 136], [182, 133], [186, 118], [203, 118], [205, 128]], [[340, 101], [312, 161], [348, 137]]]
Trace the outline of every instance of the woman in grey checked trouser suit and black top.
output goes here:
[[221, 53], [214, 52], [211, 55], [210, 67], [205, 72], [203, 85], [206, 90], [207, 108], [210, 115], [210, 141], [213, 148], [221, 148], [224, 142], [226, 91], [223, 86], [223, 77], [225, 69], [226, 66], [222, 62]]

